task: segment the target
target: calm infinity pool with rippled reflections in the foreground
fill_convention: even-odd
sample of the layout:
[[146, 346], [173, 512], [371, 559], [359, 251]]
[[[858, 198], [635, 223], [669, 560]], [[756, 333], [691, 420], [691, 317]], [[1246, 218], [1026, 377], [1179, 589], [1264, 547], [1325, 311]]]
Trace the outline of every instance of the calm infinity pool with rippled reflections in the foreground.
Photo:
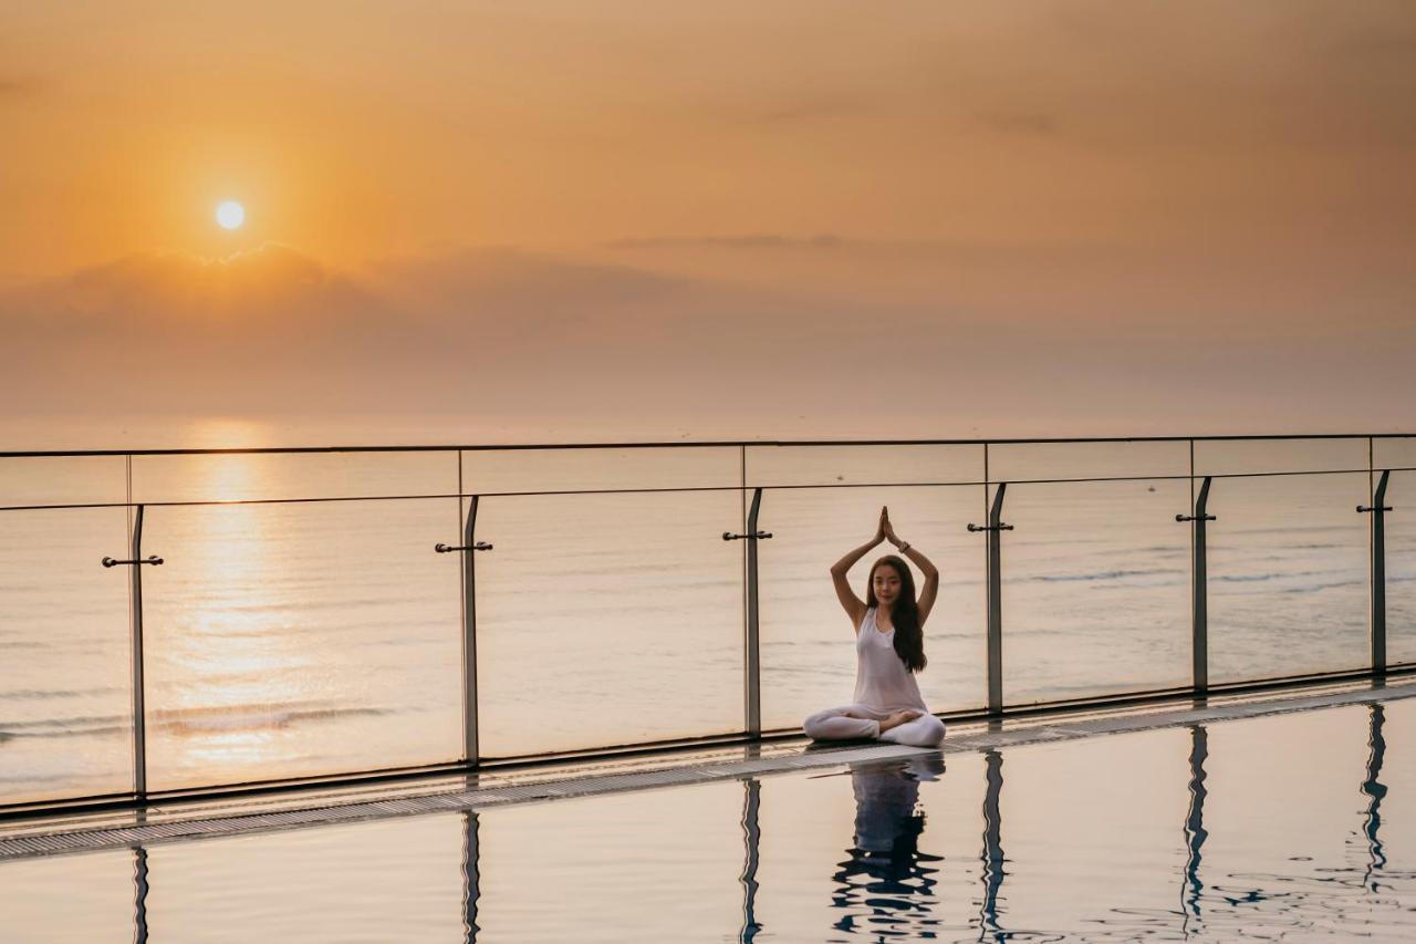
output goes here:
[[1416, 699], [0, 863], [18, 941], [1416, 938]]

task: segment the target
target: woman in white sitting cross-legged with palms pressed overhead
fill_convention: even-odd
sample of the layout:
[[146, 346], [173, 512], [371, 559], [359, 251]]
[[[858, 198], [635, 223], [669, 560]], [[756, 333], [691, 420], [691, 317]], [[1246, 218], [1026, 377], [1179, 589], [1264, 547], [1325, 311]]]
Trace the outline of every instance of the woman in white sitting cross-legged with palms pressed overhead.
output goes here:
[[[845, 574], [851, 567], [885, 540], [925, 574], [925, 591], [918, 604], [909, 566], [895, 554], [881, 557], [871, 567], [865, 602], [847, 583]], [[895, 536], [889, 509], [882, 507], [875, 537], [835, 561], [831, 580], [855, 628], [855, 702], [809, 717], [803, 726], [807, 736], [817, 741], [877, 738], [939, 747], [944, 740], [944, 723], [925, 707], [913, 676], [926, 662], [923, 629], [939, 594], [939, 570]]]

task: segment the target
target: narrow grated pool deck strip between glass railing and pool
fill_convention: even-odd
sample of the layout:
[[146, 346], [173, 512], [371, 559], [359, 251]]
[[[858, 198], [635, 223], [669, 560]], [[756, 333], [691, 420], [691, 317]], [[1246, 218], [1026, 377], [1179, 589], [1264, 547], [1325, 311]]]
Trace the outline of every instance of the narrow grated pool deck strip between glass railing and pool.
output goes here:
[[532, 768], [425, 778], [402, 784], [312, 788], [222, 801], [180, 801], [139, 809], [34, 816], [0, 824], [0, 862], [120, 849], [135, 845], [245, 835], [486, 809], [508, 804], [593, 797], [678, 784], [766, 777], [813, 768], [1044, 744], [1164, 727], [1214, 724], [1344, 704], [1416, 697], [1416, 682], [1354, 682], [1262, 695], [1177, 700], [1144, 707], [957, 724], [937, 751], [899, 744], [809, 746], [803, 737], [763, 744], [685, 748], [630, 758], [548, 763]]

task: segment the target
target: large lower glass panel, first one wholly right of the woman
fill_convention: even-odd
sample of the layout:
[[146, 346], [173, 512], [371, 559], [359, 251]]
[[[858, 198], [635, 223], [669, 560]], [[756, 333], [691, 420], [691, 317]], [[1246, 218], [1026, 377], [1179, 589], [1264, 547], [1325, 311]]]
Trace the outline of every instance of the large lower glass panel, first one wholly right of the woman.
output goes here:
[[1188, 481], [1008, 486], [1004, 703], [1189, 685], [1188, 506]]

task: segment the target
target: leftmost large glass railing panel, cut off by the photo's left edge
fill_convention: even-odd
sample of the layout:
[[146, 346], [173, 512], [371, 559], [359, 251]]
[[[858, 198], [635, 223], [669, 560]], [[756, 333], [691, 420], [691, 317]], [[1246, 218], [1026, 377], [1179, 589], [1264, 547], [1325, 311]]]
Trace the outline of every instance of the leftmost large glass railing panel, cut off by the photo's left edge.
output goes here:
[[122, 507], [0, 512], [0, 804], [129, 792]]

